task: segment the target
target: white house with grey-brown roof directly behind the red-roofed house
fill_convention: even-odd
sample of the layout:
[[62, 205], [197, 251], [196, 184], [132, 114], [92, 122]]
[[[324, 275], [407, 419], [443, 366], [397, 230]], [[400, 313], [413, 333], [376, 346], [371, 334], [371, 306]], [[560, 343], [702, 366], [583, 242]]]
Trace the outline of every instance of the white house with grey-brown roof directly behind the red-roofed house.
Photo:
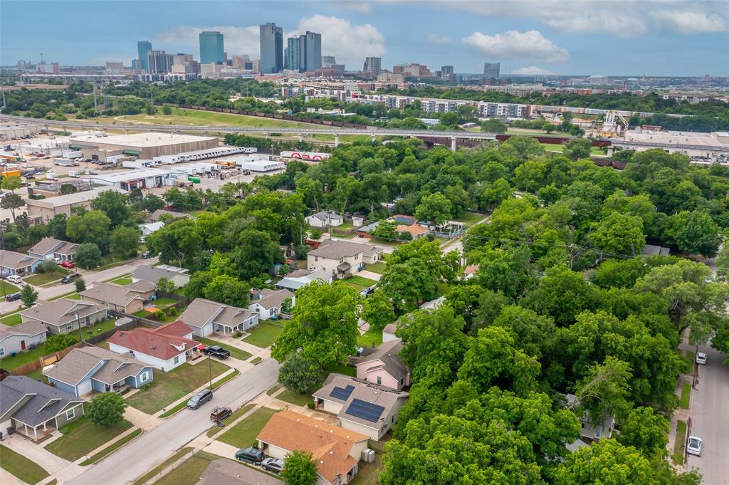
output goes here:
[[206, 337], [213, 332], [247, 332], [258, 325], [258, 315], [254, 312], [205, 298], [192, 300], [177, 319], [189, 325], [198, 337]]

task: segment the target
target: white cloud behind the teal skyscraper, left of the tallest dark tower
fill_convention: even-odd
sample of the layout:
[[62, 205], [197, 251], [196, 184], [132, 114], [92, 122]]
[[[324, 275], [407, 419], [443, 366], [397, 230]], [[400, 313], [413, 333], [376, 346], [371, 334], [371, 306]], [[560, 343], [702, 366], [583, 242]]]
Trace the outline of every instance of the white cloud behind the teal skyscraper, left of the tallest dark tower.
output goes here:
[[181, 26], [171, 28], [155, 36], [155, 41], [162, 44], [184, 45], [195, 58], [200, 54], [199, 35], [202, 31], [219, 31], [223, 34], [223, 45], [229, 57], [233, 55], [248, 54], [251, 58], [257, 58], [260, 52], [258, 26], [235, 27], [235, 26], [212, 26], [212, 27], [188, 27]]

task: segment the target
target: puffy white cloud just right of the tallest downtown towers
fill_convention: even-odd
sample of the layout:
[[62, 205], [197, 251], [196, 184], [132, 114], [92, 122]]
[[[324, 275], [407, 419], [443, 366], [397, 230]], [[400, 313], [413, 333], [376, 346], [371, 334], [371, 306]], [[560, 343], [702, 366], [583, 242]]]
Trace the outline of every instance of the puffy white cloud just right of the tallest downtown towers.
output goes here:
[[370, 23], [356, 25], [343, 18], [313, 15], [301, 19], [296, 31], [286, 36], [305, 31], [321, 34], [321, 55], [335, 55], [338, 63], [348, 66], [362, 66], [365, 57], [385, 53], [385, 36]]

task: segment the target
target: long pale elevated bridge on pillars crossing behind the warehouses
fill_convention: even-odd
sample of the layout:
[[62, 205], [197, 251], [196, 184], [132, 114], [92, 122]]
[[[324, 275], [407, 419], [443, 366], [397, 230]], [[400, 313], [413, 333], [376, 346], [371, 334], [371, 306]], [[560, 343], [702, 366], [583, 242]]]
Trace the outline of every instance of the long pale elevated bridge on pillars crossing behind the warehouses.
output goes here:
[[369, 135], [375, 141], [378, 136], [402, 136], [405, 138], [421, 138], [430, 137], [444, 141], [451, 141], [451, 150], [456, 151], [456, 141], [458, 140], [495, 140], [496, 133], [483, 133], [480, 131], [432, 131], [432, 130], [411, 130], [403, 128], [382, 128], [378, 126], [368, 126], [367, 128], [344, 128], [332, 127], [325, 128], [266, 128], [266, 127], [234, 127], [234, 126], [210, 126], [210, 125], [134, 125], [130, 123], [83, 123], [80, 121], [55, 121], [44, 120], [42, 118], [26, 118], [22, 116], [0, 115], [0, 120], [9, 120], [19, 123], [35, 123], [36, 125], [45, 126], [61, 126], [63, 128], [77, 128], [80, 130], [123, 130], [125, 133], [129, 131], [160, 131], [165, 133], [233, 133], [247, 134], [257, 133], [268, 135], [270, 133], [291, 133], [299, 136], [303, 141], [303, 137], [307, 135], [328, 134], [334, 135], [335, 147], [339, 145], [339, 137], [342, 135]]

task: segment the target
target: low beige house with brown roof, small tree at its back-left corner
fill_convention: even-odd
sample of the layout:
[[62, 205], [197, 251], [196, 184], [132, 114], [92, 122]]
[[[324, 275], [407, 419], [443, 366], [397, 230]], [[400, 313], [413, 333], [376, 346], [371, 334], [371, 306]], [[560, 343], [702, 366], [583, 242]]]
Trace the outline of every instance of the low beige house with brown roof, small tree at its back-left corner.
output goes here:
[[38, 322], [50, 333], [69, 333], [79, 326], [90, 327], [109, 318], [106, 306], [81, 300], [38, 300], [34, 306], [20, 311], [22, 322]]

